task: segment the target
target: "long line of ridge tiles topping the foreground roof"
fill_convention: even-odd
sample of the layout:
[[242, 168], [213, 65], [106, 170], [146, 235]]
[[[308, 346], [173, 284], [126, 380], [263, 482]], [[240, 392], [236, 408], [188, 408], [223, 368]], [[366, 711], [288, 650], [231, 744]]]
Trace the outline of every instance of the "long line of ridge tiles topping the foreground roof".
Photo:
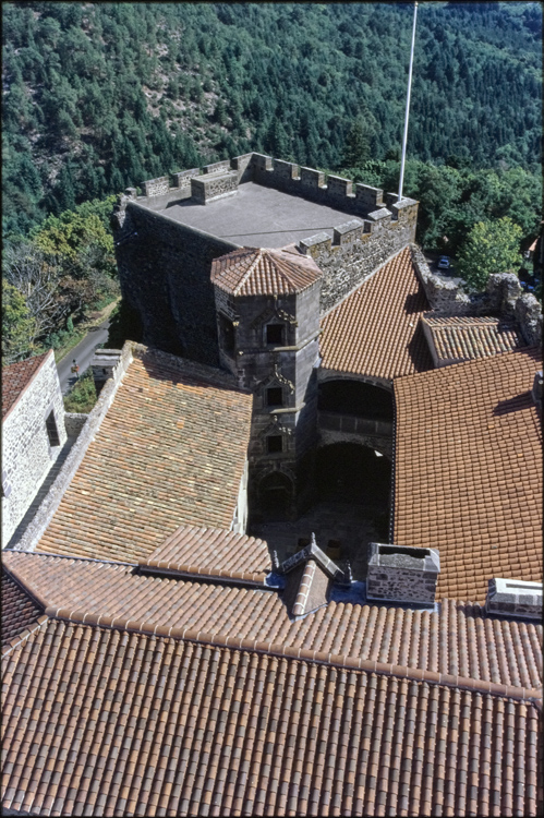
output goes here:
[[259, 642], [256, 639], [243, 639], [241, 637], [226, 636], [223, 634], [206, 634], [202, 630], [191, 628], [164, 627], [161, 625], [147, 626], [146, 623], [140, 623], [136, 619], [100, 616], [99, 614], [88, 614], [84, 611], [70, 611], [69, 609], [63, 608], [48, 608], [46, 609], [46, 615], [51, 619], [68, 621], [74, 624], [133, 633], [137, 631], [147, 636], [168, 637], [171, 639], [209, 645], [210, 647], [216, 648], [229, 648], [255, 653], [266, 653], [278, 658], [285, 657], [287, 659], [299, 659], [306, 662], [331, 665], [334, 667], [358, 670], [365, 673], [394, 676], [395, 678], [406, 678], [413, 682], [425, 682], [427, 684], [455, 687], [471, 693], [489, 694], [492, 696], [518, 699], [521, 701], [534, 701], [535, 703], [542, 701], [541, 688], [501, 685], [495, 682], [484, 682], [482, 679], [467, 678], [464, 676], [454, 676], [447, 673], [436, 673], [434, 671], [423, 671], [414, 667], [387, 664], [368, 659], [358, 659], [346, 654], [338, 655], [335, 653], [289, 647], [274, 642]]

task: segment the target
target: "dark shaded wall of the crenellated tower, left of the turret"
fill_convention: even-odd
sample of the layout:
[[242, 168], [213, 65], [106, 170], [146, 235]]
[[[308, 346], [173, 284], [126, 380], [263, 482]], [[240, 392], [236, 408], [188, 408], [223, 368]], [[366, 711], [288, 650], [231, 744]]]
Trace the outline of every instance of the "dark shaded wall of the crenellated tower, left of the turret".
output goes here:
[[211, 261], [238, 245], [128, 202], [114, 230], [121, 290], [142, 315], [143, 342], [219, 365]]

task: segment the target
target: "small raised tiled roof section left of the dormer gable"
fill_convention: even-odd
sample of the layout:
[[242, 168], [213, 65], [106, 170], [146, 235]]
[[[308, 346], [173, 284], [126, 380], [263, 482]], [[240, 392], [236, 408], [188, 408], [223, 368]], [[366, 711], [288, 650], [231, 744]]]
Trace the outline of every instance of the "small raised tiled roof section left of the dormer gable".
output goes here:
[[180, 526], [140, 565], [149, 573], [261, 584], [273, 568], [268, 546], [263, 540], [196, 526]]

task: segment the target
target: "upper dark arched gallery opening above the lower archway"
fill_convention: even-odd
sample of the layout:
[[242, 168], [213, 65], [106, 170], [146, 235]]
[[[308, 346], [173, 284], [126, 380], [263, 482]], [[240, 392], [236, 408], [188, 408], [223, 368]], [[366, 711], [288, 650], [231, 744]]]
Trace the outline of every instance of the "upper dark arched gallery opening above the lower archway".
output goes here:
[[392, 421], [392, 395], [363, 381], [336, 378], [319, 384], [318, 409], [378, 421]]

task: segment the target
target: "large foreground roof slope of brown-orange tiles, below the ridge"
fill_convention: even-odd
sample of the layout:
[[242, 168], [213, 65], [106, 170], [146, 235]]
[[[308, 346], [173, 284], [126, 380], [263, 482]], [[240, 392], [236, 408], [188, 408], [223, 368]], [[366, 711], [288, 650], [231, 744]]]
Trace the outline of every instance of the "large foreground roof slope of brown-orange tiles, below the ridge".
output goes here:
[[33, 815], [533, 816], [533, 703], [50, 619], [3, 662]]

